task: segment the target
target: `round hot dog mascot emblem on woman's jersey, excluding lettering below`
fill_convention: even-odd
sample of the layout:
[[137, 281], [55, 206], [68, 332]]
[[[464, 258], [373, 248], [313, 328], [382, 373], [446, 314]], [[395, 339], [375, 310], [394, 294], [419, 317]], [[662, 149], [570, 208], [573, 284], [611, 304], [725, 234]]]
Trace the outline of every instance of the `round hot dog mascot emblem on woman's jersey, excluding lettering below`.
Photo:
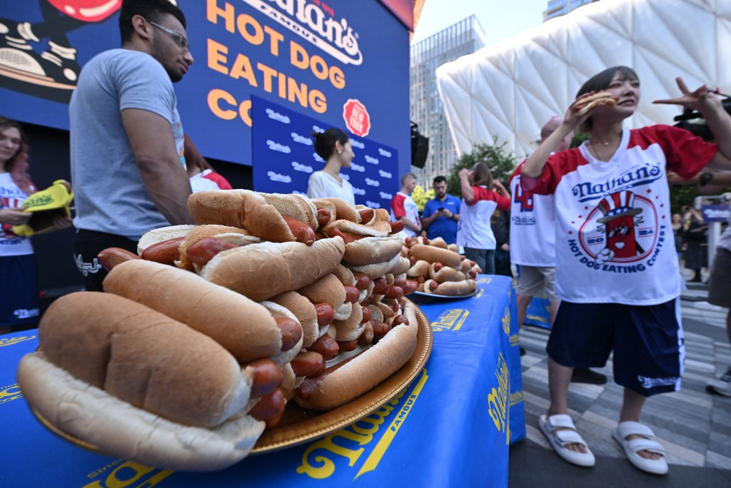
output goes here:
[[632, 191], [607, 195], [581, 226], [581, 245], [597, 263], [635, 262], [648, 256], [657, 236], [652, 202]]

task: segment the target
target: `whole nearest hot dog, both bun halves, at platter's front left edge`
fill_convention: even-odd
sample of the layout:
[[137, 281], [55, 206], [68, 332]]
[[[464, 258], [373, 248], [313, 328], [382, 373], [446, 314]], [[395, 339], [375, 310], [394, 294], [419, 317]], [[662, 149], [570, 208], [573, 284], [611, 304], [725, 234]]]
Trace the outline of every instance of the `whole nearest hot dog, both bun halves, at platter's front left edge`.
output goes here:
[[244, 413], [251, 369], [144, 305], [106, 293], [66, 295], [43, 316], [39, 342], [42, 351], [18, 367], [23, 396], [106, 454], [173, 470], [221, 469], [246, 457], [264, 429]]

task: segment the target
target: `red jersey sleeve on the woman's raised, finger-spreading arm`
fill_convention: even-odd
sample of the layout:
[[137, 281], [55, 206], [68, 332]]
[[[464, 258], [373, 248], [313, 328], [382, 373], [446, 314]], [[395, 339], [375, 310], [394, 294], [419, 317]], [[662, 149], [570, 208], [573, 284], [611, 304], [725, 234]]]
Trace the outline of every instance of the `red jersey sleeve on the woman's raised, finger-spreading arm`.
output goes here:
[[653, 142], [659, 144], [665, 153], [666, 169], [686, 180], [697, 175], [719, 150], [712, 142], [706, 142], [690, 131], [663, 125], [632, 131], [629, 147], [640, 145], [644, 149]]

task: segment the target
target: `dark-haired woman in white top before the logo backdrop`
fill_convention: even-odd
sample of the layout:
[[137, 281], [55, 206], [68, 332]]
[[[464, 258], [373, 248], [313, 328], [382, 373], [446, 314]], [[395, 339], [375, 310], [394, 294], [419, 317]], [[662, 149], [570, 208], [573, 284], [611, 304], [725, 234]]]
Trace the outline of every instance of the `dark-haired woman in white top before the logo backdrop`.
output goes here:
[[355, 154], [348, 134], [340, 129], [313, 132], [315, 151], [325, 159], [322, 171], [310, 176], [307, 196], [310, 198], [338, 197], [355, 205], [352, 185], [340, 176], [342, 168], [349, 168]]

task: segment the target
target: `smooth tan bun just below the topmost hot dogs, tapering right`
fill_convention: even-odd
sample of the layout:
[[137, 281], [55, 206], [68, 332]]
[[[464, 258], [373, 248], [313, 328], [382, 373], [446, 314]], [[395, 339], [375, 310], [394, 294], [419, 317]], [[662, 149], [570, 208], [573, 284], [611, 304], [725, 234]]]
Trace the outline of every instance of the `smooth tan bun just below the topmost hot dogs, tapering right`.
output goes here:
[[[200, 192], [202, 193], [202, 192]], [[333, 272], [345, 244], [339, 237], [303, 243], [260, 243], [216, 254], [200, 275], [255, 302], [307, 286]]]

